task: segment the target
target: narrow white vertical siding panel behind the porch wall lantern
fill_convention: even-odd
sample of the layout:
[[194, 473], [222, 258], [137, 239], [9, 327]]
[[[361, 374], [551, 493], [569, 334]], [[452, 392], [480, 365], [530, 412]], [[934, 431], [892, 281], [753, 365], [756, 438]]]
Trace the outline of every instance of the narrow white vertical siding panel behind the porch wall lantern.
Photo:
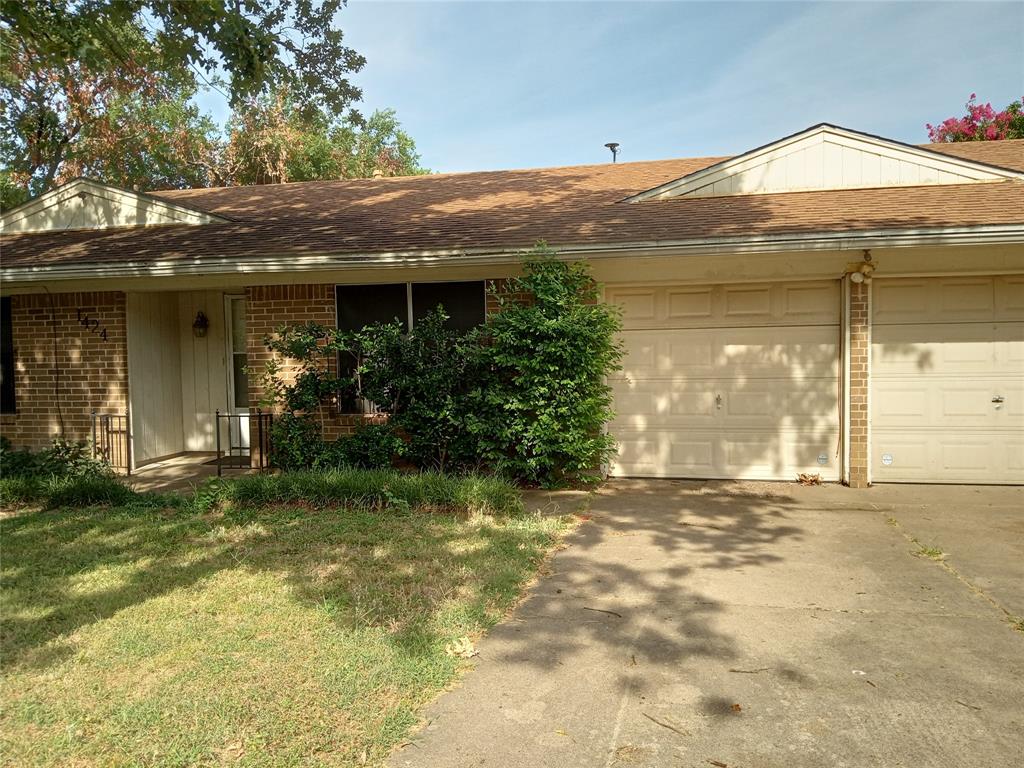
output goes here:
[[[196, 313], [210, 321], [204, 338], [193, 334]], [[181, 418], [185, 451], [216, 450], [214, 414], [227, 409], [227, 364], [224, 337], [224, 294], [186, 291], [178, 294], [181, 349]]]

